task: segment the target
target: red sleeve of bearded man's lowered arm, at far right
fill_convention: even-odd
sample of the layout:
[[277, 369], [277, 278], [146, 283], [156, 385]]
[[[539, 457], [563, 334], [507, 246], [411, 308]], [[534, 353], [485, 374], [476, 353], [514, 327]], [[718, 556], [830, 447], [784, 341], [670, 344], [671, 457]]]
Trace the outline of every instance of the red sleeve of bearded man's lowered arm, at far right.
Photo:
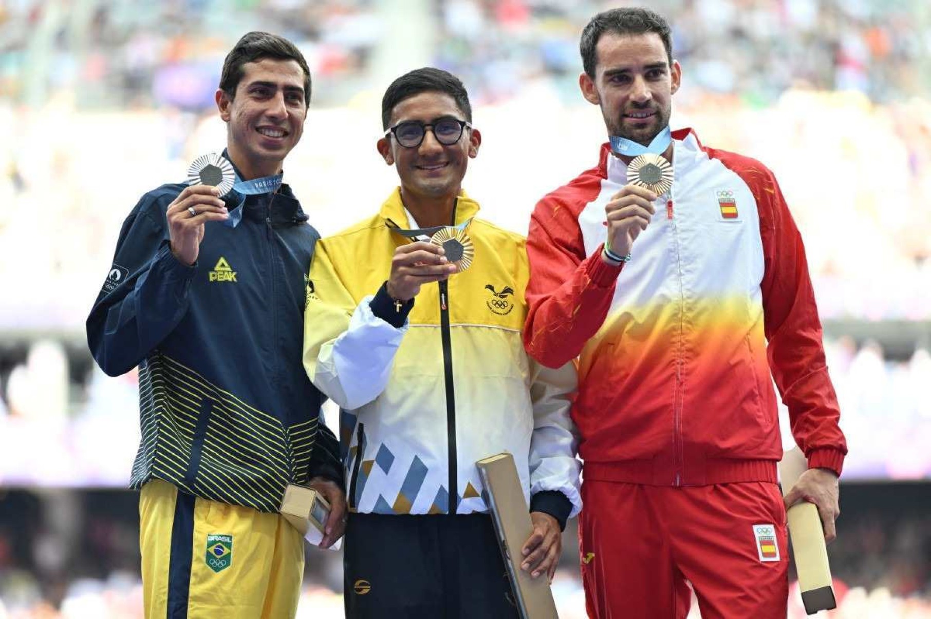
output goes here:
[[[752, 185], [751, 185], [752, 187]], [[769, 366], [789, 407], [795, 441], [809, 468], [843, 468], [847, 443], [841, 411], [828, 376], [815, 293], [802, 235], [773, 174], [766, 170], [758, 193], [765, 271], [762, 304]]]

